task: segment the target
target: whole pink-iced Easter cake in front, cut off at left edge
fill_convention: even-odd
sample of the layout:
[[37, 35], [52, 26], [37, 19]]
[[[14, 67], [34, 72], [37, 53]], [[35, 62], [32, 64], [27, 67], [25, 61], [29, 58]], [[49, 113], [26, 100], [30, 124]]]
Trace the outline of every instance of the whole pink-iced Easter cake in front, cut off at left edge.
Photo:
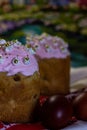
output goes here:
[[0, 40], [0, 121], [28, 122], [39, 98], [38, 64], [19, 41]]

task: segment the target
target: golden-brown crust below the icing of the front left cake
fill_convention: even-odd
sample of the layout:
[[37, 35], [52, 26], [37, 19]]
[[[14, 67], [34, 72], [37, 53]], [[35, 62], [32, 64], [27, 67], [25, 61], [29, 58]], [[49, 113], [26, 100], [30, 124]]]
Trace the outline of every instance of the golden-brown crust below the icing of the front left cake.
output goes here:
[[39, 98], [38, 73], [32, 76], [0, 73], [0, 121], [28, 122]]

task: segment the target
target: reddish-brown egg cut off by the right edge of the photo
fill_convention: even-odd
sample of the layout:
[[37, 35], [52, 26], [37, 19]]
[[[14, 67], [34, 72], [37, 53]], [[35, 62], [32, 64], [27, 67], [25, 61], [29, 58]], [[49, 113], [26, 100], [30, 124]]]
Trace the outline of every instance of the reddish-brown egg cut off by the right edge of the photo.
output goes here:
[[75, 98], [73, 106], [76, 118], [87, 121], [87, 92], [79, 94]]

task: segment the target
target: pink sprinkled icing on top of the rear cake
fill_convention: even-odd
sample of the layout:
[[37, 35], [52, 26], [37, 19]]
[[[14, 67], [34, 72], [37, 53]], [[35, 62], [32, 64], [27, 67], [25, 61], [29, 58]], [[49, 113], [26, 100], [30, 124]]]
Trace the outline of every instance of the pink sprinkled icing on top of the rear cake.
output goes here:
[[26, 48], [39, 58], [66, 58], [70, 55], [68, 44], [57, 36], [43, 33], [40, 36], [27, 37]]

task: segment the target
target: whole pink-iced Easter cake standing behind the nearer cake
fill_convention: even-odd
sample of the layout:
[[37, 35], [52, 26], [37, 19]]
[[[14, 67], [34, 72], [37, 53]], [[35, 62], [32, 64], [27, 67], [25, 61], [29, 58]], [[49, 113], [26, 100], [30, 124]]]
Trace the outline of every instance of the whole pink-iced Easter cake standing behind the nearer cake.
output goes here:
[[57, 36], [42, 34], [27, 37], [26, 48], [34, 53], [38, 60], [41, 94], [69, 93], [70, 52], [68, 44]]

